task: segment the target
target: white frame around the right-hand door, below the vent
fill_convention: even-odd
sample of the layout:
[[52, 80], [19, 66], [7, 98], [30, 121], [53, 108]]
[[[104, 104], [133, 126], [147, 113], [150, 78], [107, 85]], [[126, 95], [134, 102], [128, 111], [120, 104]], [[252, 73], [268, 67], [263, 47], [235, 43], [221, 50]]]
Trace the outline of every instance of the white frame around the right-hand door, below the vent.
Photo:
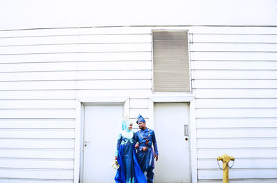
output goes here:
[[192, 95], [153, 95], [149, 97], [149, 126], [154, 129], [154, 103], [188, 103], [188, 125], [190, 127], [190, 182], [197, 183], [197, 138], [195, 119], [195, 96]]

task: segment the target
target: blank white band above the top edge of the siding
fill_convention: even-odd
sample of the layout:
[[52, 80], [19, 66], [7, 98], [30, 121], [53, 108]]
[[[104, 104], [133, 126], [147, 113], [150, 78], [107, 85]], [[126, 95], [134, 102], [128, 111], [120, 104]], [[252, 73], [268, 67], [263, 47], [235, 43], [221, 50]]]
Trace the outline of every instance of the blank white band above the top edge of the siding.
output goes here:
[[277, 0], [0, 0], [0, 30], [167, 25], [277, 26]]

